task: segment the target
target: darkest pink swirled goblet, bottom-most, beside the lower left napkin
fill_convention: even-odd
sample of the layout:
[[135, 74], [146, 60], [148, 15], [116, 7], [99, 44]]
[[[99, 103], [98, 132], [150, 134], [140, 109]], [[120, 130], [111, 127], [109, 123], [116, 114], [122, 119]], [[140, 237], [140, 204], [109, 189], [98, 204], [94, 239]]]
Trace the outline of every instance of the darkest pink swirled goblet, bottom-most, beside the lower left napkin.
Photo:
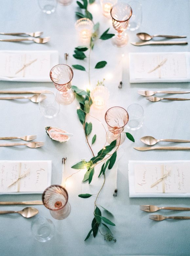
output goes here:
[[49, 186], [42, 195], [42, 201], [55, 219], [65, 219], [70, 213], [68, 194], [61, 185]]

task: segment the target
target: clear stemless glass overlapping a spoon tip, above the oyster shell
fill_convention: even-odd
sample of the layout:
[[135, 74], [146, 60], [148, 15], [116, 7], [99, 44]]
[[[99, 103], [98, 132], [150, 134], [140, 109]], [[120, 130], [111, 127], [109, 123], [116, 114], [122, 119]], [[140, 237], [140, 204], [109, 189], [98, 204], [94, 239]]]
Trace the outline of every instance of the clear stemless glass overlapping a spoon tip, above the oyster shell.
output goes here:
[[60, 105], [56, 101], [55, 95], [49, 91], [40, 94], [38, 105], [42, 115], [47, 118], [55, 117], [60, 110]]

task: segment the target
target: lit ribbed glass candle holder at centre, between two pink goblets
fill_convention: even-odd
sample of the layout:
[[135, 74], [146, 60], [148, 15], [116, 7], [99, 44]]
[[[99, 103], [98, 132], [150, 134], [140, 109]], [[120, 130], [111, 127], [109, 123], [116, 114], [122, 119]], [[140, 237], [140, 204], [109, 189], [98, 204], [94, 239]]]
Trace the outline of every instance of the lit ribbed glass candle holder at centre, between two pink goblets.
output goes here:
[[109, 99], [109, 91], [105, 86], [98, 85], [90, 91], [90, 97], [96, 108], [103, 109]]

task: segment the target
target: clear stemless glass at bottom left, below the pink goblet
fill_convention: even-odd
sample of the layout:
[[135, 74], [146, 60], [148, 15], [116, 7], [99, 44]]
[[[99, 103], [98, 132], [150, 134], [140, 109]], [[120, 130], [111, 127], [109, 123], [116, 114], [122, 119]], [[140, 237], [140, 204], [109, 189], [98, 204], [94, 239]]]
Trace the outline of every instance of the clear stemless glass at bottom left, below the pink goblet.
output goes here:
[[31, 231], [37, 241], [47, 242], [55, 234], [55, 225], [51, 220], [38, 216], [31, 223]]

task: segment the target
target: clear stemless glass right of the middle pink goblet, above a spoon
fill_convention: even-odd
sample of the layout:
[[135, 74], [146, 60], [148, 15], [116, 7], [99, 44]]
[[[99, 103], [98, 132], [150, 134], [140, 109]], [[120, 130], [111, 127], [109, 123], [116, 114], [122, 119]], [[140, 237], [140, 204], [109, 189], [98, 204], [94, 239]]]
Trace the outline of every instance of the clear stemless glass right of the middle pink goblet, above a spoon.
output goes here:
[[126, 127], [132, 131], [138, 130], [143, 126], [144, 121], [144, 110], [139, 104], [131, 104], [127, 108], [129, 114], [129, 121]]

